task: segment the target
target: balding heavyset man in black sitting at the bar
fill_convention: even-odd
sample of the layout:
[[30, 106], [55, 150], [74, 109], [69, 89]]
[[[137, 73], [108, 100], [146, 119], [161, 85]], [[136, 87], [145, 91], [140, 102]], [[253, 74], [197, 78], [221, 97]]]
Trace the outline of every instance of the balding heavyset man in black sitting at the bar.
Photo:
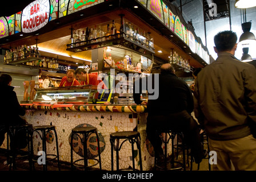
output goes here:
[[[145, 81], [143, 79], [149, 80], [149, 77], [142, 78], [141, 82]], [[154, 80], [154, 76], [152, 80]], [[153, 88], [154, 83], [155, 81], [153, 81]], [[147, 138], [154, 147], [155, 156], [157, 158], [162, 158], [163, 156], [162, 141], [159, 133], [156, 133], [156, 131], [161, 129], [177, 130], [183, 132], [186, 143], [191, 147], [191, 155], [194, 156], [196, 163], [200, 163], [203, 158], [203, 151], [198, 124], [191, 117], [194, 104], [189, 86], [174, 74], [171, 64], [163, 64], [161, 66], [158, 83], [159, 89], [155, 88], [159, 92], [158, 98], [154, 100], [149, 99], [147, 104], [149, 114], [147, 116], [146, 127]], [[149, 88], [149, 84], [150, 82], [147, 82], [147, 89]], [[134, 87], [136, 87], [136, 83]], [[149, 96], [152, 94], [149, 90], [148, 93]], [[139, 99], [140, 93], [134, 91], [133, 94], [136, 104], [145, 105]]]

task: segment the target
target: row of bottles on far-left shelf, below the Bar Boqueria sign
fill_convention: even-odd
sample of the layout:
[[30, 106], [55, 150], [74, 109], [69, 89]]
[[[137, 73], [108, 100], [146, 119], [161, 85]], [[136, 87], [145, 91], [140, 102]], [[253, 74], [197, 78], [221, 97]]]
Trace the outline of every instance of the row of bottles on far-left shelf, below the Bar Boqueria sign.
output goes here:
[[41, 57], [38, 47], [22, 45], [9, 49], [5, 54], [5, 63], [9, 64], [12, 61], [26, 59], [29, 57]]

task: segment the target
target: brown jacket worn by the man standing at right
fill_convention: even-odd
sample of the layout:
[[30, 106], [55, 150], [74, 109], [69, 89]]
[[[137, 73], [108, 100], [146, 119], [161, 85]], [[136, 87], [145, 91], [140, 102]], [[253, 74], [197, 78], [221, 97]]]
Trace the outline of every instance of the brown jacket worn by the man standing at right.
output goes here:
[[[250, 134], [247, 125], [245, 84], [253, 65], [242, 63], [230, 53], [219, 53], [214, 63], [197, 77], [199, 105], [204, 113], [204, 125], [209, 137], [227, 140]], [[253, 80], [251, 80], [253, 81]]]

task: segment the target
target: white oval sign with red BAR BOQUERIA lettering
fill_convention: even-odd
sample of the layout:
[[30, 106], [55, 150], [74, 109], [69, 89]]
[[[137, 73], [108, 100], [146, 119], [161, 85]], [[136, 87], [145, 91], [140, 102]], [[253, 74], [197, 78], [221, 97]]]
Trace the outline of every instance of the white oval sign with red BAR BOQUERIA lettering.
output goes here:
[[37, 0], [31, 2], [22, 11], [22, 32], [30, 33], [39, 30], [49, 22], [49, 0]]

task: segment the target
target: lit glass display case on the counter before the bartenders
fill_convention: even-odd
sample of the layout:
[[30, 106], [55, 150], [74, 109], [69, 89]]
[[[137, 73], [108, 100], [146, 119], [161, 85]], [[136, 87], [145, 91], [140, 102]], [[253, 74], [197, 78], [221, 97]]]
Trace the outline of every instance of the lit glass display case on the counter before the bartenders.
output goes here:
[[53, 104], [76, 103], [76, 102], [94, 102], [94, 98], [98, 98], [98, 90], [90, 86], [65, 86], [55, 88], [39, 88], [35, 94], [33, 102], [42, 102]]

